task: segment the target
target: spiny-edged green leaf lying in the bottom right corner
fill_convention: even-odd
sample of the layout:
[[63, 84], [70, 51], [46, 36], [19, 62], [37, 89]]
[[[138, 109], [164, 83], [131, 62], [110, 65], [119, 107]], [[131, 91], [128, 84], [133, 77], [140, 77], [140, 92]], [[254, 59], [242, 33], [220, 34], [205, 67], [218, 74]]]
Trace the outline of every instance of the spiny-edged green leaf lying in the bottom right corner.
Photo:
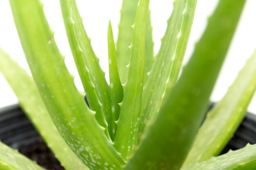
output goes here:
[[255, 167], [256, 145], [247, 145], [243, 149], [230, 151], [182, 170], [255, 170]]

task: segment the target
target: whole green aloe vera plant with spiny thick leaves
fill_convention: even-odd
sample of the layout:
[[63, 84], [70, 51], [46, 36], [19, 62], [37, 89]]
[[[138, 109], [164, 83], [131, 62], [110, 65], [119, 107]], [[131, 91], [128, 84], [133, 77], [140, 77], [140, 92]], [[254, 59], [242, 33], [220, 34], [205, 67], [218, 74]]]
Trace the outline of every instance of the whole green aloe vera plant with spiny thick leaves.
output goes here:
[[[9, 1], [32, 77], [2, 49], [0, 71], [66, 170], [256, 169], [256, 145], [218, 157], [256, 91], [256, 51], [202, 124], [245, 0], [219, 1], [181, 74], [197, 0], [173, 2], [155, 57], [149, 0], [124, 0], [117, 44], [108, 25], [110, 84], [76, 1], [60, 0], [89, 106], [65, 66], [42, 2]], [[43, 170], [2, 143], [0, 168]]]

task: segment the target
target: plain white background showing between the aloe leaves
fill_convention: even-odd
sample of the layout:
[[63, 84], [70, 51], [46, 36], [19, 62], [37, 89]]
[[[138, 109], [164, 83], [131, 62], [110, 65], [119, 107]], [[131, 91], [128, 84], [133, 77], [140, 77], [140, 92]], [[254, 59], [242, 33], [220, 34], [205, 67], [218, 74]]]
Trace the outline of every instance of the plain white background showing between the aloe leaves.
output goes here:
[[[78, 74], [72, 60], [71, 52], [68, 47], [63, 20], [58, 0], [43, 0], [44, 10], [50, 26], [56, 31], [55, 39], [61, 50], [66, 55], [65, 63], [70, 72], [76, 75], [75, 83], [82, 91]], [[92, 39], [92, 46], [95, 53], [101, 59], [100, 64], [103, 70], [108, 72], [107, 55], [107, 27], [108, 20], [111, 20], [114, 36], [117, 39], [117, 26], [119, 23], [119, 10], [121, 0], [77, 0], [79, 11], [84, 18], [85, 29]], [[191, 37], [186, 51], [184, 62], [186, 62], [193, 52], [195, 42], [200, 38], [202, 31], [207, 24], [207, 18], [213, 12], [218, 0], [198, 0], [195, 12], [195, 19], [191, 31]], [[236, 3], [236, 0], [234, 0]], [[230, 84], [234, 81], [238, 71], [243, 67], [247, 58], [256, 48], [256, 0], [247, 0], [242, 18], [236, 31], [234, 40], [229, 49], [220, 77], [211, 95], [212, 101], [220, 100], [227, 91]], [[172, 11], [172, 0], [151, 0], [150, 9], [152, 14], [153, 38], [155, 41], [155, 53], [160, 46], [166, 29], [166, 20]], [[0, 46], [7, 51], [23, 68], [28, 72], [25, 56], [22, 52], [18, 35], [11, 15], [8, 0], [0, 0]], [[11, 68], [10, 68], [11, 69]], [[108, 74], [107, 78], [108, 78]], [[11, 88], [0, 74], [0, 108], [17, 103], [18, 100]], [[249, 111], [256, 113], [256, 97], [252, 100]]]

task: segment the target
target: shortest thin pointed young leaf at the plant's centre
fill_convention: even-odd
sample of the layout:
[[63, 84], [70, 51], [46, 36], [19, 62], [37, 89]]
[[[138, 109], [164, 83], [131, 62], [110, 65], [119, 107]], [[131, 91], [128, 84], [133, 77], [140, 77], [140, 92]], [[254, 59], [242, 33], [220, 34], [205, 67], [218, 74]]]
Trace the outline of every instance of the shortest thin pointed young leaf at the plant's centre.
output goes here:
[[[116, 58], [116, 47], [113, 37], [112, 26], [109, 21], [108, 24], [108, 64], [109, 64], [109, 77], [110, 77], [110, 99], [111, 99], [111, 110], [114, 114], [114, 120], [117, 121], [120, 113], [119, 103], [122, 102], [124, 97], [123, 86], [120, 82], [118, 69], [117, 69], [117, 58]], [[116, 127], [115, 132], [116, 133]]]

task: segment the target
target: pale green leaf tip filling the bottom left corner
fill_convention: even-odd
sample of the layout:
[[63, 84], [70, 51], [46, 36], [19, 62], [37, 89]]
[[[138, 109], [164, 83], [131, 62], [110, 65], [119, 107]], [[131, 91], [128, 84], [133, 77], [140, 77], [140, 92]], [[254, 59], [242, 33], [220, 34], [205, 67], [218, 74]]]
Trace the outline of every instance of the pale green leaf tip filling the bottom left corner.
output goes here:
[[0, 142], [0, 170], [45, 170]]

